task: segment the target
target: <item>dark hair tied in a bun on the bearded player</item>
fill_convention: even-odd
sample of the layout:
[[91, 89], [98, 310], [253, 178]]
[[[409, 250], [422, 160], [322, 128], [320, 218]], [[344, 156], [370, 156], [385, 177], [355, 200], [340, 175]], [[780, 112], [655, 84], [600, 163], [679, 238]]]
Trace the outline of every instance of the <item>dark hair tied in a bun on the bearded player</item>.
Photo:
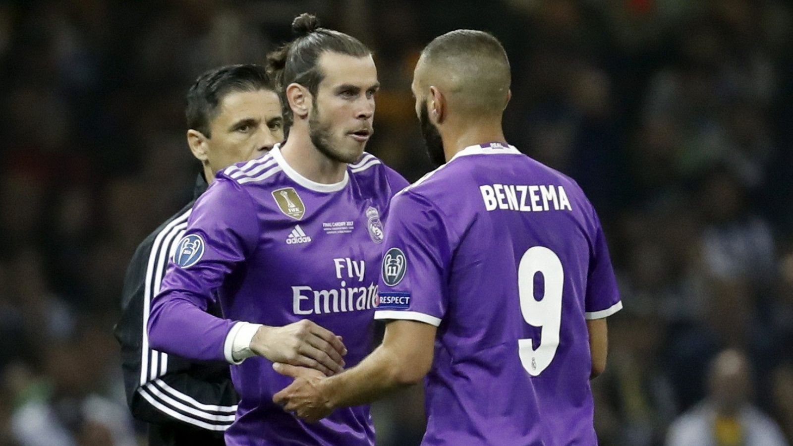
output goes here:
[[[290, 83], [299, 83], [316, 96], [324, 79], [317, 62], [324, 52], [354, 57], [372, 54], [355, 37], [319, 26], [320, 21], [315, 16], [302, 13], [292, 22], [295, 39], [267, 55], [267, 72], [274, 77], [282, 94]], [[285, 101], [284, 106], [289, 109]]]

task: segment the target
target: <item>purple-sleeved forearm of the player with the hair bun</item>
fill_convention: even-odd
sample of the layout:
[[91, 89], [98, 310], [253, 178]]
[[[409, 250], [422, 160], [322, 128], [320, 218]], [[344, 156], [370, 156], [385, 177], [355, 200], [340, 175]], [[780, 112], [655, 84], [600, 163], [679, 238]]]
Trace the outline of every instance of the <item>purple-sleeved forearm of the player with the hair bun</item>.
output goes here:
[[151, 348], [194, 360], [228, 361], [226, 338], [234, 321], [206, 313], [181, 294], [165, 294], [151, 308]]

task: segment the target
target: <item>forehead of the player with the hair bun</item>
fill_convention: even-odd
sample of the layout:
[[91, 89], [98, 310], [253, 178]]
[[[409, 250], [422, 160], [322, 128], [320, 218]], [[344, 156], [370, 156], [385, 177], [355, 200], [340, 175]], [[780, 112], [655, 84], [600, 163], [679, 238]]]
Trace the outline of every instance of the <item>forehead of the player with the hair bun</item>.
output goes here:
[[338, 52], [324, 52], [318, 61], [324, 79], [322, 87], [354, 85], [368, 89], [377, 85], [377, 67], [371, 55], [350, 56]]

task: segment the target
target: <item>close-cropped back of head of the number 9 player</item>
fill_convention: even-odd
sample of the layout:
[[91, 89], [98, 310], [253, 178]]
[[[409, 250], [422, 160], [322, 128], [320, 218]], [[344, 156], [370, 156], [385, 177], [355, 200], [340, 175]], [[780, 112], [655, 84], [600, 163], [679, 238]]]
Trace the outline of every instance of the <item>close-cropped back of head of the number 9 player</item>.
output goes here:
[[457, 29], [436, 37], [421, 52], [416, 83], [439, 87], [462, 113], [502, 113], [509, 100], [507, 52], [484, 31]]

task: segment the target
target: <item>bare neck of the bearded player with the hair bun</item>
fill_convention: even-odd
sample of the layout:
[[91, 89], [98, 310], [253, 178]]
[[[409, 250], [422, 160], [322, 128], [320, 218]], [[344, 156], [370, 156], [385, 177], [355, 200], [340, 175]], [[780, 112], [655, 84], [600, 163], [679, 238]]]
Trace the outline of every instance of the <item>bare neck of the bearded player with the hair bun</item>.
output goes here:
[[308, 127], [302, 122], [295, 123], [289, 132], [281, 154], [297, 173], [316, 183], [339, 183], [347, 171], [347, 163], [331, 160], [316, 148], [308, 136]]

